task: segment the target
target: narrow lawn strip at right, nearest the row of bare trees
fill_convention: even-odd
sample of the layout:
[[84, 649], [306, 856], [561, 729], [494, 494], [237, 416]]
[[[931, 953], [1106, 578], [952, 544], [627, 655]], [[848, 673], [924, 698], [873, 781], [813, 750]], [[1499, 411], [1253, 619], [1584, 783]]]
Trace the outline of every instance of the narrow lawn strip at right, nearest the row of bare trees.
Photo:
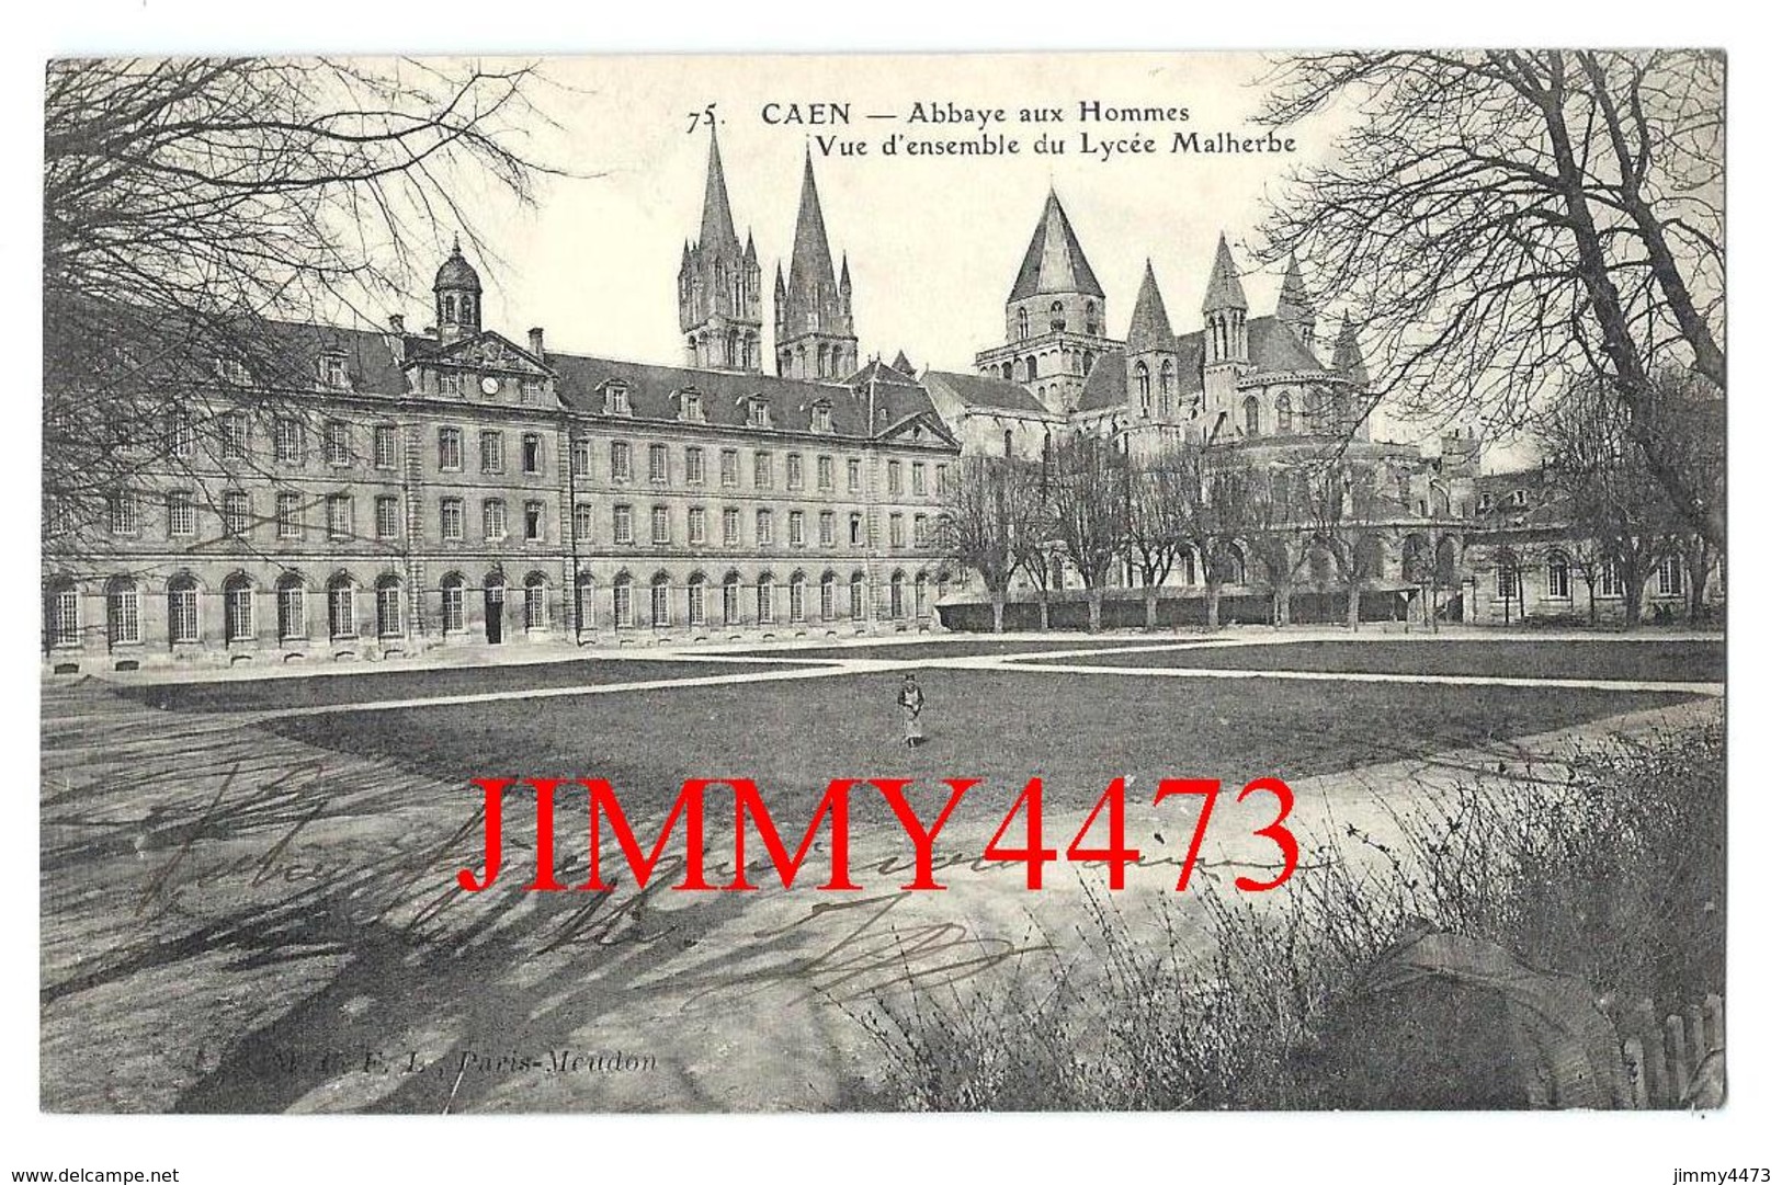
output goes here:
[[1648, 679], [1723, 682], [1721, 642], [1281, 642], [1206, 645], [1139, 654], [1041, 659], [1089, 666], [1215, 670], [1338, 670], [1406, 675], [1522, 675], [1536, 679]]

